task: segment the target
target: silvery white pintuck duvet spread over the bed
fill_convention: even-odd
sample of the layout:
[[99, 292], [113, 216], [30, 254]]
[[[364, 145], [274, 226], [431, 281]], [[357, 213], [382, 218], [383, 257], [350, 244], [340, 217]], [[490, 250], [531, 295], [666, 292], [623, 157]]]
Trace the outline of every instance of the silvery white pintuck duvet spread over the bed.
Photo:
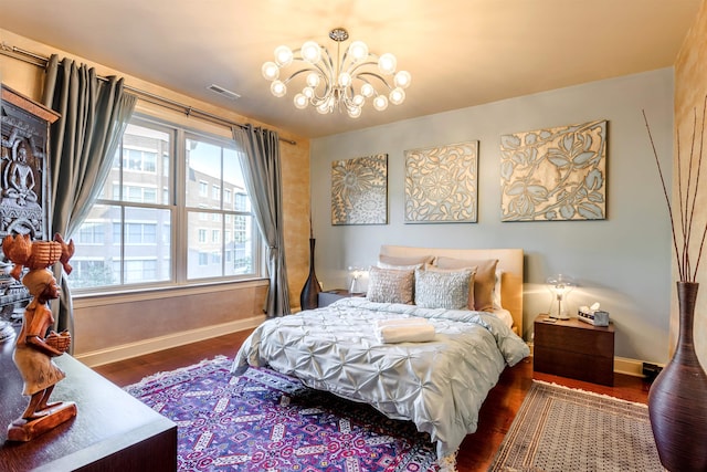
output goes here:
[[[378, 339], [377, 322], [413, 316], [434, 326], [432, 340]], [[505, 366], [529, 354], [526, 343], [492, 314], [352, 297], [264, 322], [243, 343], [231, 371], [270, 366], [308, 387], [411, 420], [436, 441], [442, 459], [476, 431], [482, 402]]]

